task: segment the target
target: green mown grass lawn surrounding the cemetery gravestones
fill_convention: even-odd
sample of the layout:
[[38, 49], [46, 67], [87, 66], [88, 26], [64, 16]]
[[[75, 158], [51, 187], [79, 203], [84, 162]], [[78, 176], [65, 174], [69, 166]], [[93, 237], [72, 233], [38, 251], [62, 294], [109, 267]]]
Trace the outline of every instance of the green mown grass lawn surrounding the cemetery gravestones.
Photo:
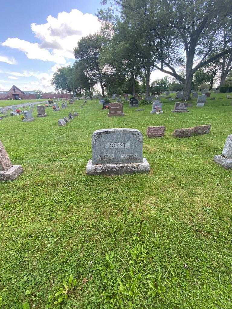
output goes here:
[[[2, 308], [232, 308], [232, 171], [213, 162], [232, 133], [232, 100], [192, 99], [189, 113], [161, 101], [160, 115], [125, 103], [124, 117], [107, 117], [99, 100], [79, 100], [0, 121], [24, 168], [0, 184]], [[58, 127], [73, 108], [80, 116]], [[172, 137], [205, 124], [209, 134]], [[152, 125], [165, 137], [147, 138]], [[87, 176], [93, 131], [123, 127], [144, 134], [149, 174]]]

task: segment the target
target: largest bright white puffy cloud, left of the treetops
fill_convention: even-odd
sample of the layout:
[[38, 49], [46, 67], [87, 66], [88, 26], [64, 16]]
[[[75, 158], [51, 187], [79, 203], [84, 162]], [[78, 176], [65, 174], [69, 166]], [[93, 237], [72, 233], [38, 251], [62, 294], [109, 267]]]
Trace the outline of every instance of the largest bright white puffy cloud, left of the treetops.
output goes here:
[[[41, 40], [41, 43], [30, 43], [19, 38], [8, 38], [2, 43], [2, 46], [18, 49], [24, 52], [29, 59], [66, 65], [67, 59], [75, 59], [73, 49], [77, 46], [80, 38], [89, 33], [93, 34], [99, 31], [100, 28], [101, 23], [92, 14], [83, 14], [79, 10], [72, 10], [69, 13], [61, 12], [57, 18], [49, 15], [45, 24], [31, 24], [32, 31]], [[12, 62], [13, 60], [8, 59], [8, 61]]]

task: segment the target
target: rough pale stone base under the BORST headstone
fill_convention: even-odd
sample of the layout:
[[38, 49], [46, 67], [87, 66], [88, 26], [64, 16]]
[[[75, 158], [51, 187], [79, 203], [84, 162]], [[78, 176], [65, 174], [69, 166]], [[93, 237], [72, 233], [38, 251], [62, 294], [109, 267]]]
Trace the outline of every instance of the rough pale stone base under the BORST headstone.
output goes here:
[[86, 165], [86, 174], [88, 175], [122, 175], [133, 173], [148, 173], [150, 165], [146, 158], [143, 163], [122, 163], [122, 164], [92, 164], [88, 160]]

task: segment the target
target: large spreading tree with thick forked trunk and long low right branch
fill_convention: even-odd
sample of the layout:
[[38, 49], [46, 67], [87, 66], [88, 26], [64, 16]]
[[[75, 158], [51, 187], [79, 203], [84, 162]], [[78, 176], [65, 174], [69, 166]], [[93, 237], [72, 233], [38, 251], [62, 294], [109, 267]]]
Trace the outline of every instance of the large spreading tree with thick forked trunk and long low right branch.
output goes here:
[[[232, 2], [219, 0], [115, 0], [121, 18], [130, 15], [141, 32], [153, 36], [151, 52], [159, 64], [154, 67], [183, 83], [183, 99], [190, 99], [193, 74], [209, 63], [232, 53], [232, 48], [218, 51], [218, 37], [225, 19], [231, 23]], [[103, 14], [102, 14], [103, 15]], [[103, 15], [104, 16], [104, 15]], [[111, 13], [111, 16], [113, 14]], [[137, 37], [136, 37], [137, 38]], [[183, 49], [185, 58], [180, 57]], [[212, 57], [208, 57], [213, 54]], [[176, 72], [183, 65], [186, 77]]]

